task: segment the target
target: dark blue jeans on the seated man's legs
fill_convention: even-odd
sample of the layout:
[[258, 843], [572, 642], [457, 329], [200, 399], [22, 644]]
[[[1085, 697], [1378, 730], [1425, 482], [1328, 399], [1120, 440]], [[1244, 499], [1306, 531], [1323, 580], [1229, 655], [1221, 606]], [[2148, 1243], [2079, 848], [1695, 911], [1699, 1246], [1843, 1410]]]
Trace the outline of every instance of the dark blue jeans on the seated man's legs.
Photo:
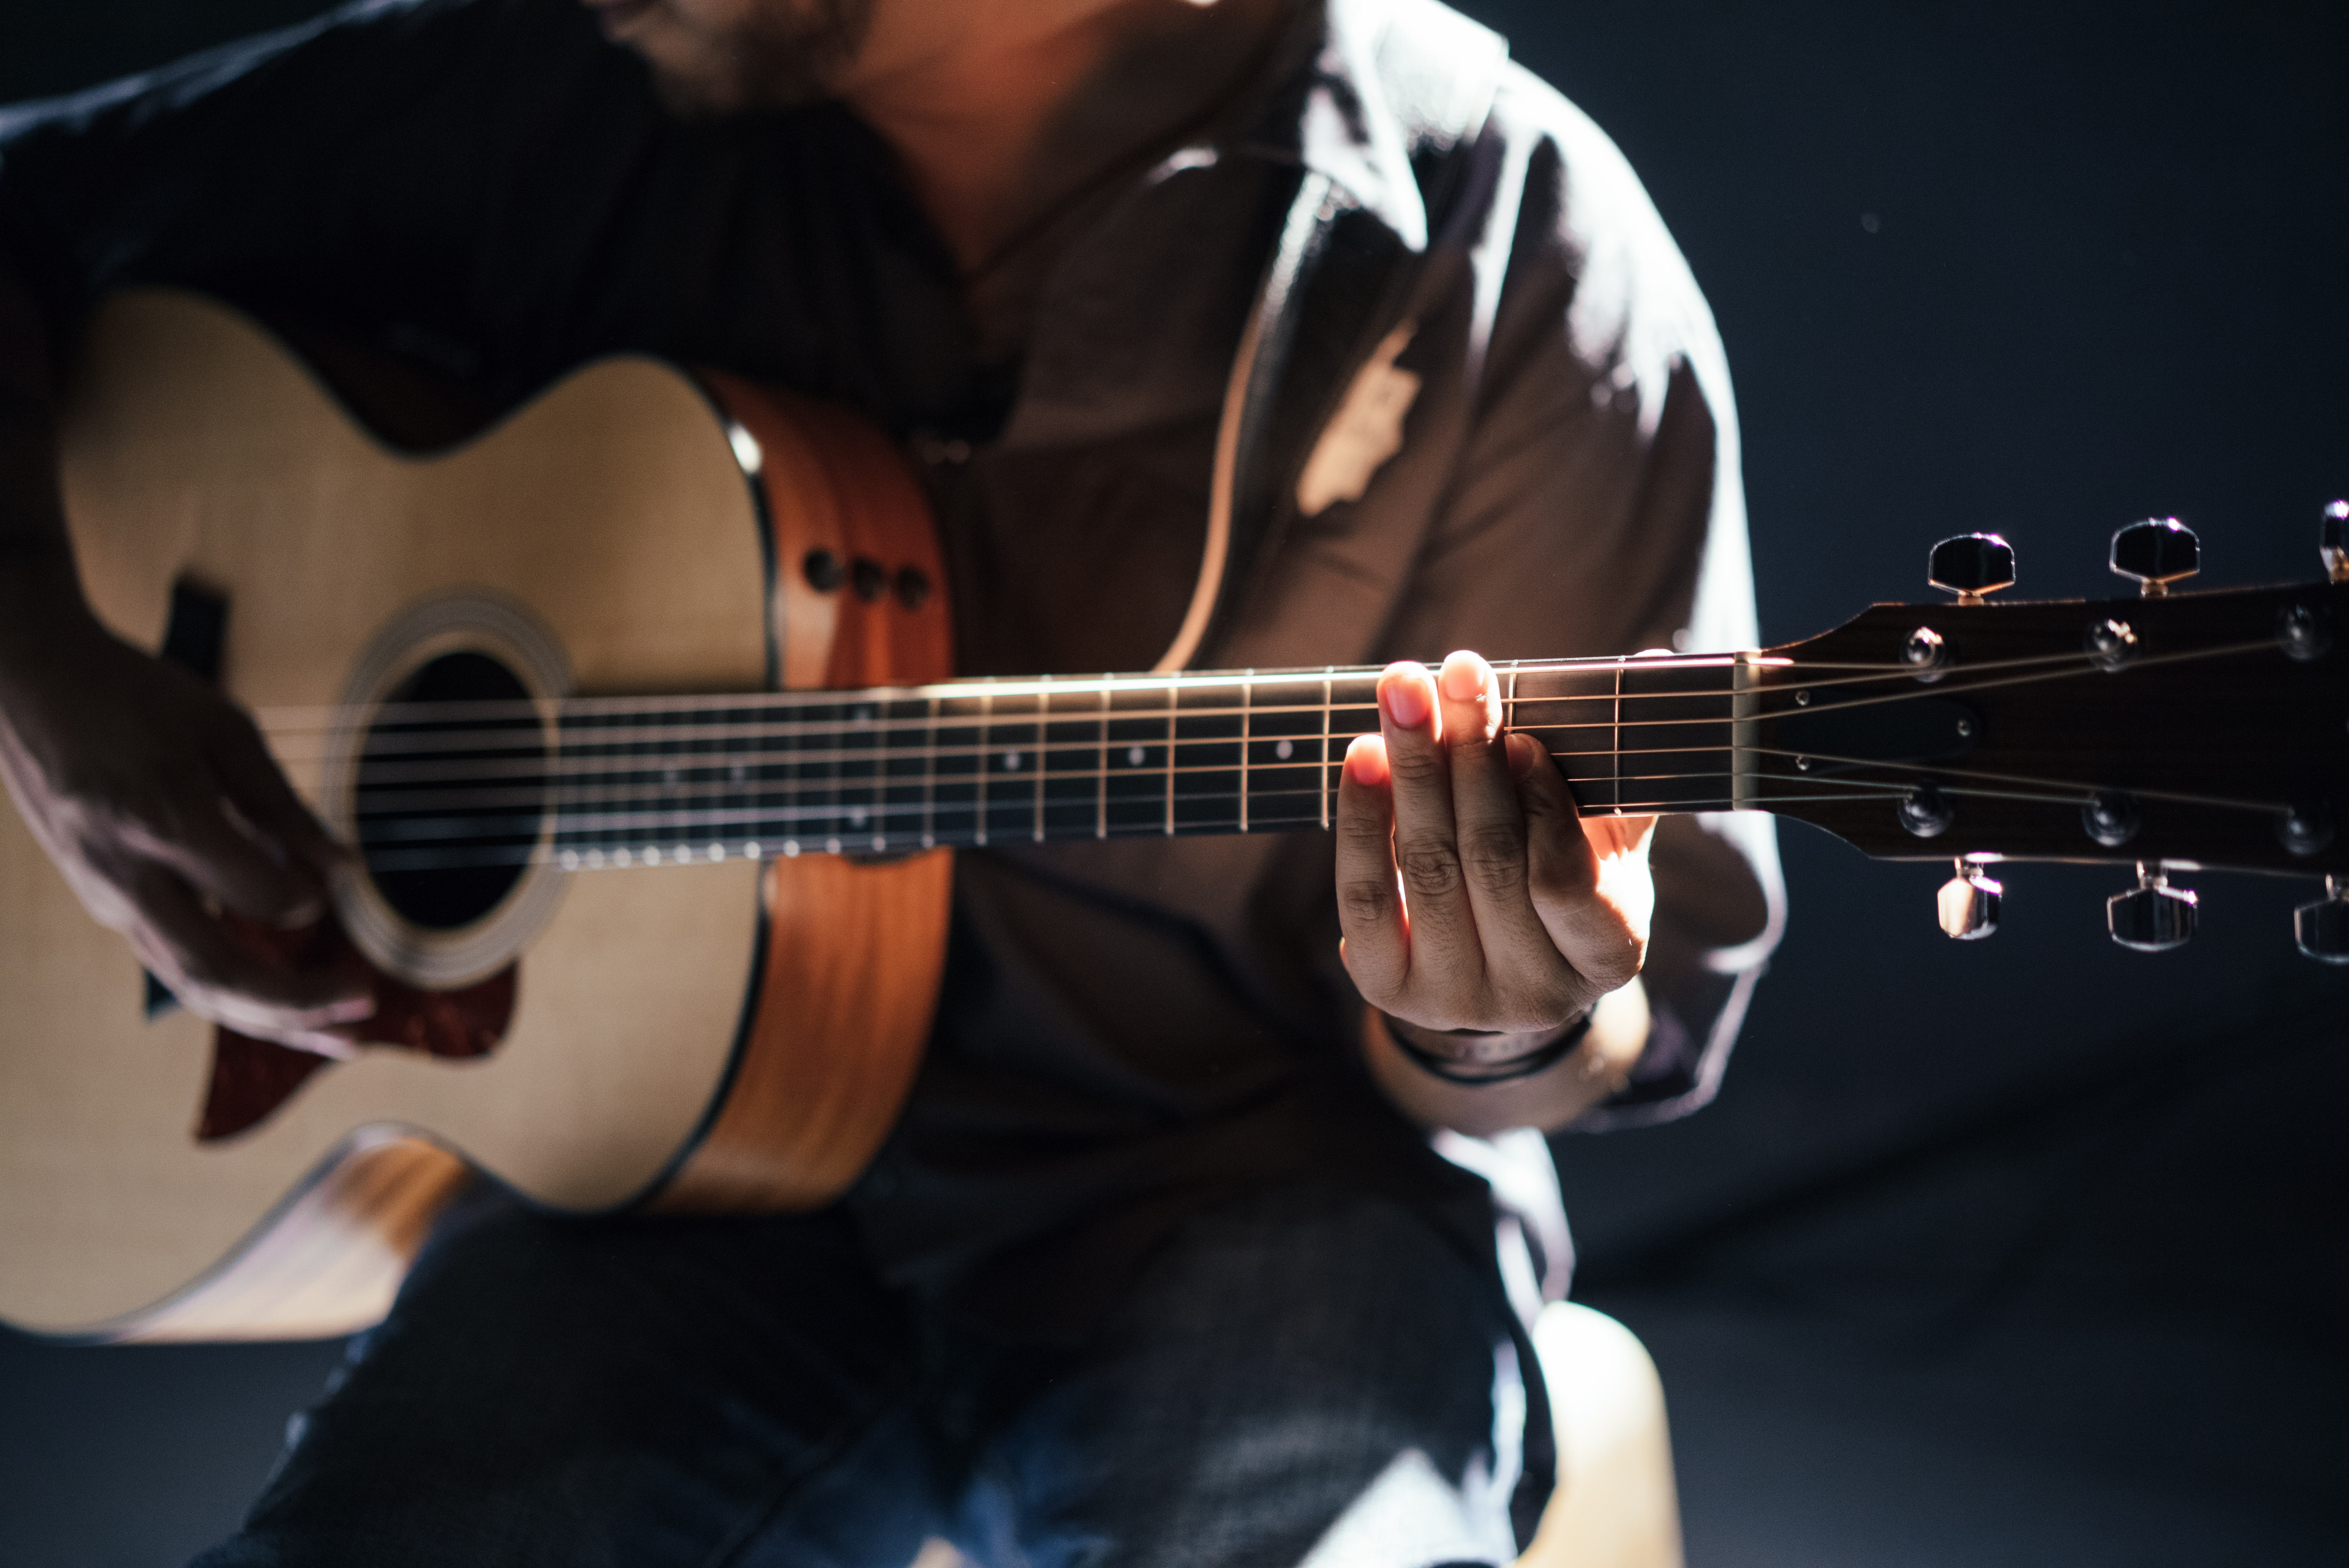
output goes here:
[[197, 1563], [907, 1568], [930, 1535], [989, 1566], [1506, 1563], [1525, 1383], [1492, 1296], [1407, 1209], [1266, 1195], [1041, 1352], [916, 1310], [836, 1214], [484, 1195]]

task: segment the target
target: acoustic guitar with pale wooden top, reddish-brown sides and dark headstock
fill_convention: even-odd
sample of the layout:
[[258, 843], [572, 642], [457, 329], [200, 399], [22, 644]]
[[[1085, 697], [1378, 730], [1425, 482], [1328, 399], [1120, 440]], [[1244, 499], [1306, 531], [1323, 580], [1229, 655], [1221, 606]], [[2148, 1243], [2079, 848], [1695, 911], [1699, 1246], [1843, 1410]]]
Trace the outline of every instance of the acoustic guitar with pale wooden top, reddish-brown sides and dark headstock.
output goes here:
[[[364, 967], [329, 1063], [169, 1007], [0, 812], [0, 1319], [296, 1338], [385, 1310], [472, 1169], [566, 1211], [813, 1207], [911, 1082], [951, 854], [1327, 829], [1377, 669], [949, 678], [944, 570], [890, 441], [721, 373], [611, 359], [432, 455], [190, 296], [110, 300], [68, 397], [82, 577], [249, 707], [359, 847], [294, 955]], [[2109, 603], [1877, 606], [1766, 653], [1501, 667], [1586, 812], [1766, 810], [1945, 857], [2135, 869], [2112, 932], [2192, 932], [2192, 866], [2326, 878], [2349, 960], [2349, 559]], [[261, 934], [256, 934], [258, 939]]]

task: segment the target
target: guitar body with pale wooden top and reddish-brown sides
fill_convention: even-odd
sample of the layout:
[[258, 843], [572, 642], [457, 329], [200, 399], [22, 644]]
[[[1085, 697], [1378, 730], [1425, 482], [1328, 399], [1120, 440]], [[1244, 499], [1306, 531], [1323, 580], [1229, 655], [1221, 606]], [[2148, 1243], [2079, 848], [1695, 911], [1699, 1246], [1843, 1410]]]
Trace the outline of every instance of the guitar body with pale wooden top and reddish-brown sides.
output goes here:
[[[80, 364], [63, 472], [92, 606], [162, 648], [174, 584], [226, 601], [218, 678], [249, 709], [397, 699], [449, 655], [531, 697], [949, 674], [928, 512], [836, 411], [613, 359], [418, 458], [251, 322], [174, 293], [113, 300]], [[827, 592], [810, 552], [881, 563], [888, 587], [841, 570]], [[336, 737], [282, 761], [348, 829]], [[122, 939], [0, 812], [0, 1319], [345, 1333], [385, 1310], [467, 1167], [566, 1211], [836, 1197], [911, 1082], [951, 852], [684, 850], [627, 876], [526, 866], [453, 925], [352, 878], [343, 925], [395, 979], [428, 998], [510, 981], [486, 1049], [364, 1049], [197, 1138], [214, 1028], [146, 1014]]]

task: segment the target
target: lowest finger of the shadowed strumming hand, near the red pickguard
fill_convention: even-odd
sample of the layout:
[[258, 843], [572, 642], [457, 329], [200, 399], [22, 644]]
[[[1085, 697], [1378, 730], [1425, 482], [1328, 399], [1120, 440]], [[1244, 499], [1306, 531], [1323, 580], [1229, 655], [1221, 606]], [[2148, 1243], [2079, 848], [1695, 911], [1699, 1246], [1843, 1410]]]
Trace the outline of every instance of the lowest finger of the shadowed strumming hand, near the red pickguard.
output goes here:
[[350, 1026], [376, 1009], [362, 976], [294, 969], [247, 951], [160, 866], [129, 892], [141, 913], [132, 946], [190, 1012], [261, 1040], [350, 1054]]

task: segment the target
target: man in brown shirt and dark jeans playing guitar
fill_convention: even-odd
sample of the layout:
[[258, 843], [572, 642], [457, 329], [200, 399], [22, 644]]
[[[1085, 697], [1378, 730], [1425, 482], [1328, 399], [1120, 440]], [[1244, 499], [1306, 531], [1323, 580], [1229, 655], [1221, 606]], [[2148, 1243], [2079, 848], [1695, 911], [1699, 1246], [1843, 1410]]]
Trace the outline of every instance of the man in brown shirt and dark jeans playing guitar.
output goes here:
[[[366, 995], [221, 913], [315, 918], [348, 850], [66, 542], [59, 385], [132, 282], [496, 406], [613, 352], [850, 404], [923, 469], [963, 674], [1755, 641], [1694, 282], [1433, 2], [357, 5], [0, 115], [0, 765], [190, 1009], [322, 1054]], [[1217, 474], [1273, 340], [1261, 460]], [[1261, 526], [1196, 622], [1217, 486]], [[1508, 1561], [1555, 1174], [1468, 1155], [1532, 1162], [1496, 1242], [1428, 1131], [1708, 1099], [1776, 859], [1581, 819], [1473, 653], [1393, 664], [1379, 725], [1334, 836], [965, 854], [930, 1056], [841, 1204], [474, 1192], [202, 1561]]]

